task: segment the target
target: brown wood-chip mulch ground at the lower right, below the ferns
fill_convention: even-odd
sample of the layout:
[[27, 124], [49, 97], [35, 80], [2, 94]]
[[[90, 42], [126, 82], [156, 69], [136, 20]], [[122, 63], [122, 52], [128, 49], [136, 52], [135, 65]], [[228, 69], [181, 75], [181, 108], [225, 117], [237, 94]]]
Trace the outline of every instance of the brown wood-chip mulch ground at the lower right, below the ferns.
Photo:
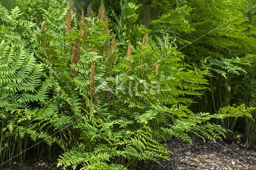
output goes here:
[[166, 148], [173, 153], [170, 160], [163, 160], [162, 165], [141, 161], [136, 170], [256, 170], [252, 150], [221, 141], [204, 143], [196, 136], [192, 140], [193, 145], [178, 138], [166, 142]]

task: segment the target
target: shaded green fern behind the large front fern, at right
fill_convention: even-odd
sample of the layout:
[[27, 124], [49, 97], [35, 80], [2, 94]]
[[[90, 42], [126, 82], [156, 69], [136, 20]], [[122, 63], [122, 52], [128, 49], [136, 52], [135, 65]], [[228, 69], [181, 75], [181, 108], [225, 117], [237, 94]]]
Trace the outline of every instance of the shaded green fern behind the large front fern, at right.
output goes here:
[[[218, 112], [223, 106], [255, 107], [255, 2], [250, 0], [189, 0], [141, 2], [139, 13], [149, 22], [151, 34], [167, 36], [184, 54], [184, 62], [200, 70], [208, 70], [208, 85], [189, 105], [194, 112]], [[149, 8], [149, 14], [146, 9]], [[157, 9], [157, 10], [155, 10]], [[159, 17], [158, 17], [159, 16]], [[141, 22], [142, 22], [141, 21]], [[254, 119], [217, 120], [222, 127], [234, 131], [238, 125], [247, 144], [255, 143]], [[233, 140], [232, 132], [226, 133]], [[249, 136], [251, 136], [250, 139]], [[248, 142], [250, 140], [250, 142]], [[250, 144], [249, 144], [250, 143]]]

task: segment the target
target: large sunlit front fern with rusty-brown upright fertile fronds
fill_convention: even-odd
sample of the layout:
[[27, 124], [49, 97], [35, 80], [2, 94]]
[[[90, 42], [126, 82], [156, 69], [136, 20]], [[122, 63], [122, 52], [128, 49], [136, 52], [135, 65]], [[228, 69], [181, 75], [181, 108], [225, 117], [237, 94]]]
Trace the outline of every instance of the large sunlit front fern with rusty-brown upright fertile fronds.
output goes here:
[[209, 120], [251, 117], [254, 108], [244, 104], [193, 113], [190, 96], [201, 96], [209, 71], [186, 64], [160, 30], [194, 31], [164, 23], [181, 12], [174, 21], [185, 23], [191, 8], [163, 10], [151, 22], [162, 27], [150, 33], [136, 24], [139, 6], [120, 3], [114, 26], [103, 3], [98, 15], [89, 6], [78, 20], [65, 0], [51, 0], [42, 30], [20, 20], [18, 7], [0, 7], [2, 162], [18, 153], [24, 160], [22, 150], [44, 139], [64, 150], [58, 166], [134, 168], [138, 160], [169, 159], [161, 142], [172, 136], [221, 139], [227, 131]]

